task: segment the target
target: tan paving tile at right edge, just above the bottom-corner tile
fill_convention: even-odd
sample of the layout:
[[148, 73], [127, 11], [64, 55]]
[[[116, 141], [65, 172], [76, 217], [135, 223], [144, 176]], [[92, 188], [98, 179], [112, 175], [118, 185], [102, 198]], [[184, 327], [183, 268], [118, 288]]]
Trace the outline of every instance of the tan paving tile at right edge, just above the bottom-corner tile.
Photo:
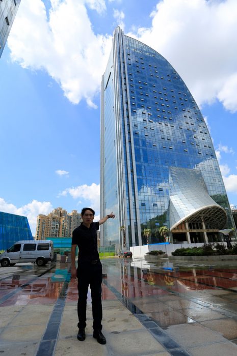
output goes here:
[[232, 318], [202, 321], [201, 324], [221, 333], [228, 340], [237, 338], [237, 321]]

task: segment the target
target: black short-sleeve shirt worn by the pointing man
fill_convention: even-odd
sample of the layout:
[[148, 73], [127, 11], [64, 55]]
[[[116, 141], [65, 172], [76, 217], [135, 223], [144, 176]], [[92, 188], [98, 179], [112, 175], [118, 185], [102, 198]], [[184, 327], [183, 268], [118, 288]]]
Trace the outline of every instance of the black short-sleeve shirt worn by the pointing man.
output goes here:
[[97, 234], [99, 229], [99, 222], [92, 222], [90, 227], [86, 227], [81, 223], [72, 232], [72, 245], [77, 245], [79, 248], [78, 261], [89, 262], [99, 259], [97, 248]]

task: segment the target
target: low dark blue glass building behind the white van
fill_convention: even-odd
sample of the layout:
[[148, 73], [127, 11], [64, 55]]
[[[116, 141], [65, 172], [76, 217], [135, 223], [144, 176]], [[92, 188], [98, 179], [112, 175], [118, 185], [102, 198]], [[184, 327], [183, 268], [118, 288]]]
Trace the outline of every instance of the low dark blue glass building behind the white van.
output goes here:
[[0, 212], [0, 250], [19, 240], [33, 240], [27, 217]]

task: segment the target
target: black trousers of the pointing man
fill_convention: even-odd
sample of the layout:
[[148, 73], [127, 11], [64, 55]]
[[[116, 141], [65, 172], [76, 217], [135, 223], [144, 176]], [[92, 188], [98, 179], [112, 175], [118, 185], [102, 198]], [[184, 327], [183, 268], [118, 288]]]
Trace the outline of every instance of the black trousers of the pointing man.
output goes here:
[[86, 328], [86, 309], [87, 309], [87, 292], [91, 288], [91, 304], [93, 316], [93, 329], [101, 330], [102, 304], [101, 304], [101, 283], [102, 283], [102, 265], [100, 260], [97, 263], [78, 261], [77, 268], [78, 278], [78, 328]]

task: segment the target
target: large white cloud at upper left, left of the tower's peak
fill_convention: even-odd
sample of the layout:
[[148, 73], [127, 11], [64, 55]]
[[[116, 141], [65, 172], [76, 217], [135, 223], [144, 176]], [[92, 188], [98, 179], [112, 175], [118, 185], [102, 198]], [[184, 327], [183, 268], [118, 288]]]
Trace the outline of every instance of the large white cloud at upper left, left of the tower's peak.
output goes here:
[[73, 104], [96, 107], [112, 46], [110, 36], [95, 35], [86, 6], [101, 13], [103, 0], [51, 0], [47, 18], [42, 0], [21, 2], [8, 39], [11, 58], [23, 68], [44, 70]]

